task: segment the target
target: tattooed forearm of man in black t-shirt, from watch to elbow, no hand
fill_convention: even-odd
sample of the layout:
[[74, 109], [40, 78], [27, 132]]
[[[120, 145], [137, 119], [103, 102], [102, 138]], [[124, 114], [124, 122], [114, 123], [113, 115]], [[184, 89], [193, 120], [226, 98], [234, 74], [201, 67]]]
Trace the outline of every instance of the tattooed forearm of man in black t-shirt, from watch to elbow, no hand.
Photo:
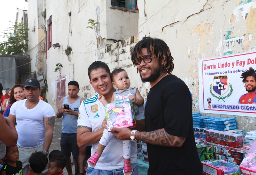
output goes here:
[[164, 129], [151, 132], [135, 132], [135, 137], [145, 143], [159, 146], [179, 146], [185, 139], [184, 137], [174, 137], [168, 134]]

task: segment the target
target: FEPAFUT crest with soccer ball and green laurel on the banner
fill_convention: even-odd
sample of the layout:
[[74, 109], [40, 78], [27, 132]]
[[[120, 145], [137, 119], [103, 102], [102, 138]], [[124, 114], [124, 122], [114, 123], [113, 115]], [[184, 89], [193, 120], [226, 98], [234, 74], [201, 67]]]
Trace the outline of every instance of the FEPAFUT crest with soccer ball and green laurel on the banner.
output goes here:
[[[218, 101], [220, 99], [222, 99], [224, 101], [225, 98], [229, 97], [232, 92], [233, 92], [233, 88], [232, 88], [232, 85], [230, 83], [227, 82], [228, 81], [228, 76], [214, 76], [213, 78], [213, 84], [210, 85], [210, 92], [212, 94], [212, 96], [214, 96], [215, 98], [218, 99]], [[220, 96], [220, 95], [224, 95], [225, 93], [227, 93], [230, 89], [230, 92], [228, 95], [226, 96]], [[217, 95], [219, 96], [216, 96], [213, 91], [215, 93], [217, 93]]]

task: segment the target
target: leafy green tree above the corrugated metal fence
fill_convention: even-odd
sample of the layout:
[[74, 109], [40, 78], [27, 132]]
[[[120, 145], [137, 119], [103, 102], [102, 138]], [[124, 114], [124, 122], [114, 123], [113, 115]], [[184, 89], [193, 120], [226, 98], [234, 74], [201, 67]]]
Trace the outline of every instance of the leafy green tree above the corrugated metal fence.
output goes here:
[[28, 28], [26, 23], [11, 24], [2, 32], [7, 41], [0, 43], [0, 53], [17, 55], [28, 51]]

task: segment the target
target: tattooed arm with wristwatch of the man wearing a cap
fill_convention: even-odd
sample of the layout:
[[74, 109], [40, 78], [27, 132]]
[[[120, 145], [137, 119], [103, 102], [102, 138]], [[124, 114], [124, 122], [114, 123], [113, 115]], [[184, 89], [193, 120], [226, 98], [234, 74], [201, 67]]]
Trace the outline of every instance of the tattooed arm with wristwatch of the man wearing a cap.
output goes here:
[[49, 147], [53, 140], [53, 127], [55, 123], [55, 116], [44, 117], [44, 139], [43, 139], [43, 150], [49, 150]]

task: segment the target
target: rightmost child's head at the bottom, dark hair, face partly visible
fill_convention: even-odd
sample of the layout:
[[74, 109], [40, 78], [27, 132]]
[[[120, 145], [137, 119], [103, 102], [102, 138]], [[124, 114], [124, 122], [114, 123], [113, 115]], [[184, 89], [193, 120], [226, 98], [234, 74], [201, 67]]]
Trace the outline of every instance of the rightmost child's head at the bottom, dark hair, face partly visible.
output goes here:
[[55, 152], [54, 155], [51, 155], [49, 158], [49, 175], [58, 175], [63, 168], [66, 166], [66, 156], [62, 152]]

